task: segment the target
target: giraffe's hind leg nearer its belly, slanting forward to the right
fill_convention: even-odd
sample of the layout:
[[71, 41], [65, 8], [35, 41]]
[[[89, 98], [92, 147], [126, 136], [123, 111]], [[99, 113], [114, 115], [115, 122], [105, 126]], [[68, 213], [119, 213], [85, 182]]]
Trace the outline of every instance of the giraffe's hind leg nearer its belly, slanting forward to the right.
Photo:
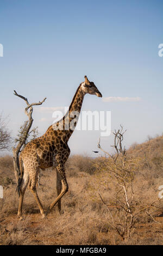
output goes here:
[[40, 202], [40, 199], [39, 199], [39, 197], [37, 195], [37, 191], [36, 191], [36, 182], [37, 182], [37, 179], [38, 179], [39, 171], [40, 171], [40, 169], [37, 168], [37, 167], [33, 167], [33, 169], [30, 170], [30, 174], [29, 174], [30, 175], [29, 188], [30, 188], [30, 191], [34, 194], [34, 197], [36, 199], [37, 205], [39, 206], [42, 218], [45, 218], [46, 217], [45, 211], [43, 210], [42, 204]]

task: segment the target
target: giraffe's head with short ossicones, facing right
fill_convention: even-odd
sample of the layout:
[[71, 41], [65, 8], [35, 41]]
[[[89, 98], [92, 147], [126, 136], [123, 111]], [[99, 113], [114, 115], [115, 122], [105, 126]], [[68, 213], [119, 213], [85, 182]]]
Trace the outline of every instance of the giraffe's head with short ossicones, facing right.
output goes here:
[[85, 77], [85, 81], [81, 84], [82, 90], [85, 93], [89, 93], [89, 94], [97, 95], [98, 97], [102, 97], [102, 94], [99, 92], [99, 90], [95, 86], [95, 83], [90, 82], [86, 76], [84, 76], [84, 77]]

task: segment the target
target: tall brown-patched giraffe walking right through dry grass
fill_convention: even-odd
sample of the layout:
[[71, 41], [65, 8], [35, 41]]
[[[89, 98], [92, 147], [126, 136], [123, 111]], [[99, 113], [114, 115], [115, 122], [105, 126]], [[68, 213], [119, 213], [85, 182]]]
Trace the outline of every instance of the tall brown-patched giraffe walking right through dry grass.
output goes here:
[[[77, 125], [80, 109], [82, 107], [85, 94], [93, 94], [102, 97], [93, 82], [85, 76], [85, 81], [80, 83], [74, 94], [71, 105], [65, 116], [48, 127], [44, 135], [29, 142], [21, 151], [19, 156], [21, 177], [18, 180], [17, 192], [19, 194], [18, 217], [22, 216], [23, 197], [29, 184], [30, 191], [34, 194], [39, 206], [42, 218], [58, 203], [58, 210], [61, 212], [61, 198], [68, 191], [68, 184], [65, 175], [64, 164], [70, 155], [68, 139], [72, 135], [73, 127]], [[74, 113], [76, 121], [74, 122]], [[62, 128], [62, 129], [61, 129]], [[43, 209], [36, 191], [36, 182], [40, 169], [55, 166], [57, 168], [57, 198], [49, 205], [47, 211]]]

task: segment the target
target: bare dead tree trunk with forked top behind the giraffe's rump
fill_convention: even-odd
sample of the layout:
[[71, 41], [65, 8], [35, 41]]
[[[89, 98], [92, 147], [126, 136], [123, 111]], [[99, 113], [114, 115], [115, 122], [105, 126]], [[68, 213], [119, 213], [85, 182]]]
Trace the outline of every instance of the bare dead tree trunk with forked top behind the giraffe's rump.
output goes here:
[[19, 168], [19, 163], [18, 163], [18, 155], [21, 151], [22, 146], [27, 141], [30, 128], [33, 124], [33, 118], [32, 118], [33, 106], [41, 105], [46, 100], [46, 97], [42, 101], [35, 102], [35, 103], [29, 103], [26, 97], [24, 97], [20, 94], [17, 94], [17, 92], [15, 90], [14, 90], [14, 95], [16, 95], [16, 96], [20, 97], [21, 99], [23, 99], [24, 101], [26, 101], [27, 107], [25, 108], [24, 112], [28, 117], [28, 121], [26, 123], [26, 127], [24, 127], [21, 139], [18, 141], [18, 144], [16, 145], [16, 147], [12, 148], [13, 161], [14, 161], [14, 173], [15, 173], [16, 180], [18, 181], [19, 178], [20, 178], [20, 168]]

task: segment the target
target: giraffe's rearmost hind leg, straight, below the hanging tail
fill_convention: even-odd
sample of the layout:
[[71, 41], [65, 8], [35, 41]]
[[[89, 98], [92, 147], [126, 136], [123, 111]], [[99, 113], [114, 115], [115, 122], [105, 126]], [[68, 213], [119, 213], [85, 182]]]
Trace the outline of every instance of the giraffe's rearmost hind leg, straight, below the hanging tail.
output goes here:
[[29, 182], [29, 173], [27, 172], [26, 169], [24, 169], [24, 174], [23, 174], [21, 185], [20, 185], [20, 198], [19, 198], [19, 205], [18, 205], [18, 212], [17, 212], [18, 217], [21, 217], [22, 215], [23, 198], [24, 198], [24, 193], [26, 192], [26, 188], [28, 186], [28, 182]]

